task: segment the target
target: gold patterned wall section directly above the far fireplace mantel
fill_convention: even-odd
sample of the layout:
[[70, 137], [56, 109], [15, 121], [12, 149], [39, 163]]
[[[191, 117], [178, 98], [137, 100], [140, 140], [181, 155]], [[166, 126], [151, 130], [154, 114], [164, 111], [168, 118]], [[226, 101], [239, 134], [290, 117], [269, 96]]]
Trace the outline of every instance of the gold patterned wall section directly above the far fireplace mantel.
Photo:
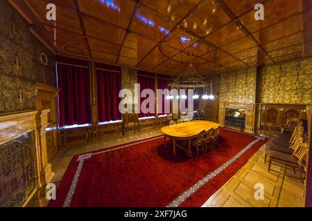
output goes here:
[[256, 68], [220, 76], [219, 102], [254, 104]]

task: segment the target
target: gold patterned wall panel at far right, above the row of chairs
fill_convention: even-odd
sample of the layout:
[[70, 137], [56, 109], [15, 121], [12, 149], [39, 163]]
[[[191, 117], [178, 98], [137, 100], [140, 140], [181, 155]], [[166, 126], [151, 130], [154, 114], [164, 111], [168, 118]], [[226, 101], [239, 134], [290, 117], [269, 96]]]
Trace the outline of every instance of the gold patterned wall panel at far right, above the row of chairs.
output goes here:
[[261, 99], [271, 104], [311, 104], [312, 59], [263, 69]]

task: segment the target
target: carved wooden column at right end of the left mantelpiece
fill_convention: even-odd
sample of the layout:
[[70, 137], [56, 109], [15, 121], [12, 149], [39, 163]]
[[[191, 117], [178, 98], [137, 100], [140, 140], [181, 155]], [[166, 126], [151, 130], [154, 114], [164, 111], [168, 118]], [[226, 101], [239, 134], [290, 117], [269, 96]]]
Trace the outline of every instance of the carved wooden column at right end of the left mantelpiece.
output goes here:
[[38, 111], [36, 115], [36, 124], [37, 124], [37, 142], [39, 151], [38, 159], [40, 159], [40, 182], [41, 184], [49, 183], [54, 175], [52, 172], [52, 165], [48, 162], [48, 155], [46, 151], [46, 127], [49, 125], [49, 115], [50, 110]]

